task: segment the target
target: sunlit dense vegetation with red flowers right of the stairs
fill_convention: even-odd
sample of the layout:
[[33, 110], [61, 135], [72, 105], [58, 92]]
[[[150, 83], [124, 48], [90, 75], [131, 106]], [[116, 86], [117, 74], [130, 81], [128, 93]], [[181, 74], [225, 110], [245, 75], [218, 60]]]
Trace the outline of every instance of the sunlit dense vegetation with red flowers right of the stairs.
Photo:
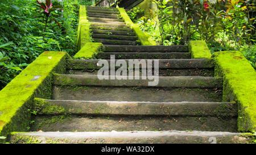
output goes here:
[[255, 68], [255, 1], [244, 0], [159, 0], [157, 9], [127, 10], [134, 23], [158, 44], [184, 45], [205, 40], [210, 51], [241, 51]]

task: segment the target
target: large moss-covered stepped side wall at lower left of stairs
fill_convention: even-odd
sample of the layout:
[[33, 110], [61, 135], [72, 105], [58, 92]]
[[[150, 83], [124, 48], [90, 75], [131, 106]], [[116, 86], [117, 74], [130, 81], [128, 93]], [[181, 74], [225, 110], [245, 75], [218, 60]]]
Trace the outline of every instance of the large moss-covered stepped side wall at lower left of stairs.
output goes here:
[[27, 131], [33, 99], [51, 98], [51, 73], [65, 73], [66, 58], [66, 52], [43, 52], [0, 91], [0, 136]]

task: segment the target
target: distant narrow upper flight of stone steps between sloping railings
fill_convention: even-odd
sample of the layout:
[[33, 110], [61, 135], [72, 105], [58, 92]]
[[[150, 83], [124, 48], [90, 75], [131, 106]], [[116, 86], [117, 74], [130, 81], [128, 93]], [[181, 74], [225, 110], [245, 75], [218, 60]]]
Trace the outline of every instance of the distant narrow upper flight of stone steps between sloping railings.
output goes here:
[[140, 45], [133, 30], [126, 26], [116, 8], [86, 7], [94, 42], [104, 45]]

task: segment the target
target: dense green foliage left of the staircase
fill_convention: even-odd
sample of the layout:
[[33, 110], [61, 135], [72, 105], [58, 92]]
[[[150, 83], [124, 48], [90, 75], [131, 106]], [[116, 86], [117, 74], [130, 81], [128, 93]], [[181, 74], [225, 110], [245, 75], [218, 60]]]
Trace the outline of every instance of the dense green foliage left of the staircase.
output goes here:
[[74, 2], [0, 1], [0, 90], [44, 51], [76, 53]]

